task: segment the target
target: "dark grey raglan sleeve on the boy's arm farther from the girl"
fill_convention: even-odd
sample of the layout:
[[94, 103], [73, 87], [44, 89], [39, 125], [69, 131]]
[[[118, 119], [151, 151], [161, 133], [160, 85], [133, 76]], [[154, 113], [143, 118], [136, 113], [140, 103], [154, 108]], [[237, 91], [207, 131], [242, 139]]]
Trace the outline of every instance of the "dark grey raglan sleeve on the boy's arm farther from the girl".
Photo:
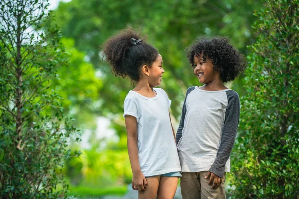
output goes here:
[[221, 143], [218, 149], [216, 160], [209, 170], [221, 178], [224, 175], [225, 163], [227, 162], [235, 143], [240, 118], [239, 95], [233, 90], [226, 91], [226, 95], [228, 105], [225, 112]]

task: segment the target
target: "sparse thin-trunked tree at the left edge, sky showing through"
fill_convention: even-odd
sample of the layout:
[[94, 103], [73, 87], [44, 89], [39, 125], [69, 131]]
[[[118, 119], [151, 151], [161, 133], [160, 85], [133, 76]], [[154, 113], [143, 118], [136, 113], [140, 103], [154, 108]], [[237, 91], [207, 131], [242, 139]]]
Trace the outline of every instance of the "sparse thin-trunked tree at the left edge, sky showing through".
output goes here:
[[0, 1], [0, 198], [58, 198], [67, 188], [56, 171], [77, 130], [51, 86], [66, 56], [57, 28], [43, 25], [48, 5]]

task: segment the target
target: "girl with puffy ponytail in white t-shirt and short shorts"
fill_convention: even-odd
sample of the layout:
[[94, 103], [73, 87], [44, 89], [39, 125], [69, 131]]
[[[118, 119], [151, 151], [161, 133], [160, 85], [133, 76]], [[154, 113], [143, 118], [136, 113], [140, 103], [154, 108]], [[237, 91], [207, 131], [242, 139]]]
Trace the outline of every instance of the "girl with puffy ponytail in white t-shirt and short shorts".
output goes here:
[[105, 60], [116, 76], [129, 77], [135, 88], [124, 101], [132, 188], [139, 199], [173, 199], [181, 176], [169, 108], [161, 88], [163, 59], [133, 29], [125, 29], [103, 45]]

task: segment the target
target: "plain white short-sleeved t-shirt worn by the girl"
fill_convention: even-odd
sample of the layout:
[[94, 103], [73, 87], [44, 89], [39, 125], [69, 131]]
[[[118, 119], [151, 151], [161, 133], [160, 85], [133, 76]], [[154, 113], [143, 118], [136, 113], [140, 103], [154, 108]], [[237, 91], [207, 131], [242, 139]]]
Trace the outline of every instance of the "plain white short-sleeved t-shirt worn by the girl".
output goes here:
[[152, 98], [129, 91], [124, 101], [124, 117], [136, 117], [138, 160], [146, 177], [181, 171], [169, 118], [171, 100], [163, 89], [154, 91]]

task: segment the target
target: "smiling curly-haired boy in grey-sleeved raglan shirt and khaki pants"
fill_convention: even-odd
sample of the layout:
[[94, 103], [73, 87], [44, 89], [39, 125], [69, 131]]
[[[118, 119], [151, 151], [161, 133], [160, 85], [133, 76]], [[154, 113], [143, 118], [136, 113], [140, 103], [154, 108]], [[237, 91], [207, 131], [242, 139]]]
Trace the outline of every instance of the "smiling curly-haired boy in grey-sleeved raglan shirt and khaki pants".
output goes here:
[[230, 172], [240, 100], [224, 83], [234, 80], [245, 62], [227, 38], [199, 38], [186, 51], [204, 85], [188, 88], [176, 134], [181, 193], [183, 199], [225, 199], [225, 172]]

